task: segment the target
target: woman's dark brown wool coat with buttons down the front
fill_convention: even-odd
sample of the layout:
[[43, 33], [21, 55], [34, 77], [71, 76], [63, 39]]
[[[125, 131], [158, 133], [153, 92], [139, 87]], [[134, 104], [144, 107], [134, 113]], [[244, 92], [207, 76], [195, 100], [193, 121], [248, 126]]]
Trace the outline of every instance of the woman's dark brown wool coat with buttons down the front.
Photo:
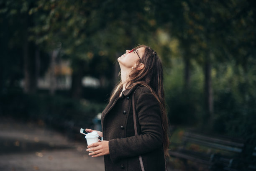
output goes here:
[[[136, 86], [138, 87], [138, 86]], [[136, 89], [118, 92], [102, 112], [103, 140], [109, 141], [109, 155], [104, 156], [105, 171], [164, 171], [164, 149], [159, 103], [147, 87], [134, 95], [138, 135], [133, 125], [132, 94]]]

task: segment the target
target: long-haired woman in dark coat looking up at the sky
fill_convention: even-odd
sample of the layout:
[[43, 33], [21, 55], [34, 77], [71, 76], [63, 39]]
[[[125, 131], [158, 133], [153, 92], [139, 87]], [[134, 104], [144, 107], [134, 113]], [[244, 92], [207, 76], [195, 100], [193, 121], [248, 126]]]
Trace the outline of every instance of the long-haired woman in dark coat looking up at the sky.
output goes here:
[[[169, 139], [159, 56], [141, 45], [126, 50], [118, 63], [121, 81], [102, 112], [103, 133], [97, 131], [103, 141], [88, 145], [87, 151], [94, 151], [89, 153], [92, 157], [104, 155], [105, 171], [140, 171], [138, 156], [145, 171], [164, 171]], [[133, 94], [138, 135], [133, 124]]]

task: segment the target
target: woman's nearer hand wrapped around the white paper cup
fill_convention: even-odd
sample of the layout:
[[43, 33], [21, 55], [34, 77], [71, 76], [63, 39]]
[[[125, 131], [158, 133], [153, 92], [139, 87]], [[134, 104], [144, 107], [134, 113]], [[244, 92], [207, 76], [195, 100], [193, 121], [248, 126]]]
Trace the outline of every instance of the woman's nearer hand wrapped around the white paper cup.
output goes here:
[[99, 157], [109, 154], [108, 141], [99, 141], [97, 143], [92, 143], [88, 145], [87, 148], [90, 149], [87, 149], [86, 151], [93, 151], [92, 153], [89, 153], [89, 156], [92, 157]]

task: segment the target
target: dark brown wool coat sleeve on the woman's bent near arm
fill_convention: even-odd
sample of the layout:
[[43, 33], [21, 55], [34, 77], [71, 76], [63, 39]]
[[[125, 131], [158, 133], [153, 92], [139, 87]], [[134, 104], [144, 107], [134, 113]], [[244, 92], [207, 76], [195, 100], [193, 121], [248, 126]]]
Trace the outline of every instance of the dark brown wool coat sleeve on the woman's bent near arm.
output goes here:
[[161, 110], [153, 94], [139, 94], [136, 102], [141, 135], [109, 140], [110, 158], [118, 159], [139, 156], [162, 146]]

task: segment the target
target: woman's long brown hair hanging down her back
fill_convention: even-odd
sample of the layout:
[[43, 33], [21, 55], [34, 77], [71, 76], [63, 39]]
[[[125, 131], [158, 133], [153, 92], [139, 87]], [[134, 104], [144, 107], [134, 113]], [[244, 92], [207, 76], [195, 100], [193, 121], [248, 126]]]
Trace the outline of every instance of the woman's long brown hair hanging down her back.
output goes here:
[[[161, 124], [163, 130], [163, 145], [164, 145], [164, 155], [169, 156], [169, 138], [168, 138], [168, 118], [166, 114], [166, 106], [164, 100], [164, 87], [163, 87], [163, 68], [159, 56], [156, 51], [151, 49], [149, 46], [140, 45], [137, 48], [145, 48], [144, 54], [141, 57], [141, 63], [144, 64], [144, 68], [141, 70], [136, 69], [139, 65], [133, 69], [126, 81], [125, 89], [132, 89], [137, 84], [144, 85], [151, 90], [151, 93], [156, 97], [159, 102], [161, 109]], [[113, 89], [110, 96], [110, 100], [113, 98], [116, 92], [121, 92], [123, 89], [123, 84], [120, 82]], [[119, 94], [120, 95], [120, 94]]]

